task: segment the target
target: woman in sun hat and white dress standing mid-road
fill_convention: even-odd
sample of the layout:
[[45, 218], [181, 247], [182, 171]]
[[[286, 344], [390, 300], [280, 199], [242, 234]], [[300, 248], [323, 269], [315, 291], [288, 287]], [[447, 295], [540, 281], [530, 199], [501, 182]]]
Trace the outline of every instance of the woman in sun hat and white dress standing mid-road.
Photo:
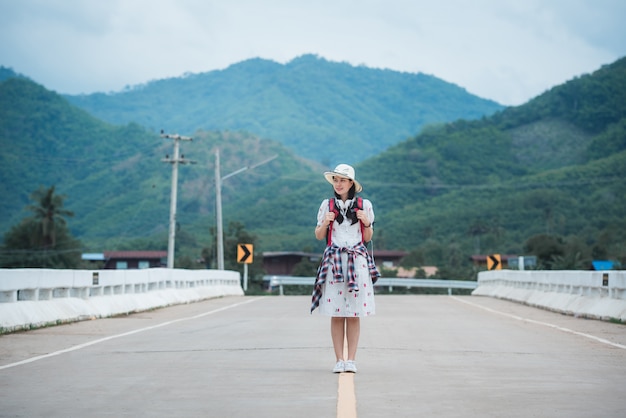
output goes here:
[[333, 185], [335, 197], [322, 201], [317, 213], [315, 238], [326, 239], [327, 246], [317, 271], [311, 312], [319, 306], [322, 315], [331, 317], [333, 372], [356, 373], [360, 320], [375, 312], [374, 283], [380, 277], [365, 246], [374, 234], [374, 209], [369, 200], [356, 197], [363, 187], [351, 166], [339, 164], [324, 177]]

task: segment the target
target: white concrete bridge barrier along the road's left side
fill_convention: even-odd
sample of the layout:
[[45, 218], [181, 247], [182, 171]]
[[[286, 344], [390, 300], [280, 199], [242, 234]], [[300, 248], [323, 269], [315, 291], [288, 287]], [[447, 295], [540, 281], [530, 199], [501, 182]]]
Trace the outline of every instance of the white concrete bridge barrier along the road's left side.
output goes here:
[[0, 333], [243, 294], [236, 271], [0, 269]]

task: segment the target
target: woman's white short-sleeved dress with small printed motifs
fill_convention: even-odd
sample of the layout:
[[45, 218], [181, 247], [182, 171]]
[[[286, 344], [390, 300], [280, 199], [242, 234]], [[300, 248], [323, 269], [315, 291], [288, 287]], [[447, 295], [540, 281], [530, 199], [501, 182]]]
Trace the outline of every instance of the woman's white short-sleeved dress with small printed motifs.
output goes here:
[[[345, 211], [351, 201], [341, 202], [337, 199], [338, 209]], [[363, 199], [363, 210], [371, 222], [374, 222], [374, 210], [372, 203]], [[317, 224], [321, 225], [324, 215], [328, 213], [328, 199], [320, 205], [317, 213]], [[361, 242], [361, 223], [351, 225], [349, 219], [345, 219], [340, 224], [333, 223], [332, 242], [339, 247], [353, 247]], [[340, 317], [361, 317], [374, 315], [376, 304], [374, 301], [374, 286], [370, 277], [367, 259], [357, 256], [354, 263], [356, 282], [358, 291], [348, 291], [348, 254], [341, 254], [343, 281], [335, 281], [332, 274], [328, 274], [326, 282], [322, 287], [322, 297], [319, 301], [319, 310], [322, 315]]]

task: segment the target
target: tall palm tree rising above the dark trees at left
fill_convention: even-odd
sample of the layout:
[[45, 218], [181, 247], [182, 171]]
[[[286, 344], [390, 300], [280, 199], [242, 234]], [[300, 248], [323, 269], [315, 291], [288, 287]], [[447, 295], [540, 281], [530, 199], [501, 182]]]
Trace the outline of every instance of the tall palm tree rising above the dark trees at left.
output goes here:
[[[36, 204], [28, 205], [27, 209], [35, 214], [35, 221], [39, 224], [37, 234], [41, 234], [41, 246], [44, 249], [54, 247], [56, 244], [56, 225], [66, 225], [64, 216], [74, 216], [74, 212], [63, 209], [65, 195], [54, 194], [55, 186], [45, 189], [40, 186], [31, 195]], [[34, 237], [39, 238], [39, 237]], [[33, 241], [39, 241], [34, 239]]]

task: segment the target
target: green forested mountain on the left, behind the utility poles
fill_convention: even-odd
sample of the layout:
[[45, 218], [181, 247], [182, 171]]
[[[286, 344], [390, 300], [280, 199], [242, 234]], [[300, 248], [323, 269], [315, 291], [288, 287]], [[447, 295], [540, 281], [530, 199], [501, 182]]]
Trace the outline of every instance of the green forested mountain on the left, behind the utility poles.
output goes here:
[[[3, 233], [28, 216], [22, 209], [40, 185], [56, 185], [57, 193], [67, 196], [66, 207], [77, 214], [69, 220], [71, 230], [88, 245], [167, 233], [172, 169], [162, 160], [172, 155], [171, 140], [136, 124], [102, 122], [24, 78], [0, 83], [0, 127]], [[298, 177], [321, 170], [275, 141], [241, 132], [199, 131], [181, 145], [182, 154], [197, 162], [179, 167], [177, 220], [183, 225], [214, 213], [218, 148], [224, 175], [278, 156], [239, 176], [248, 188], [271, 183], [269, 173]], [[226, 205], [240, 178], [225, 182]]]

